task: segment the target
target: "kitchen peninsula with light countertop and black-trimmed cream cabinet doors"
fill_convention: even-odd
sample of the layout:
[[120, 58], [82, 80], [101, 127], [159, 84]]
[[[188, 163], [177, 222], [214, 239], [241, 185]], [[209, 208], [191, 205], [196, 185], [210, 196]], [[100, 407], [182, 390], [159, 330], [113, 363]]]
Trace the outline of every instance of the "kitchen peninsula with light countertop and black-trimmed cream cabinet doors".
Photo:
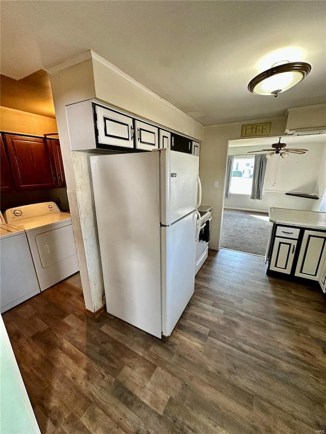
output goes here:
[[266, 273], [319, 282], [326, 293], [326, 213], [269, 208]]

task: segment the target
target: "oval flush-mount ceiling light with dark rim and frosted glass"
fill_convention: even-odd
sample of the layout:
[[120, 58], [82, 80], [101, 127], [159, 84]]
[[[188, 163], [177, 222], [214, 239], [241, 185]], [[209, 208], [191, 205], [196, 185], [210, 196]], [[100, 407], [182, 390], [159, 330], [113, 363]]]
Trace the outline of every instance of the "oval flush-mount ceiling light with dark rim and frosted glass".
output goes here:
[[248, 84], [248, 90], [256, 95], [278, 96], [302, 81], [311, 71], [306, 62], [284, 63], [274, 65], [267, 71], [254, 77]]

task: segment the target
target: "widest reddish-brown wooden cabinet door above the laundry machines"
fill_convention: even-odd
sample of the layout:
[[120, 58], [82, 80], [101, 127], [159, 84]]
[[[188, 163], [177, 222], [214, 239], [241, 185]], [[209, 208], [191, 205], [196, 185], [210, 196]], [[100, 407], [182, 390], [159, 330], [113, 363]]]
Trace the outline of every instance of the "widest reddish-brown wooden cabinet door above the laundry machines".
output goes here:
[[42, 138], [5, 134], [18, 190], [55, 187], [52, 165]]

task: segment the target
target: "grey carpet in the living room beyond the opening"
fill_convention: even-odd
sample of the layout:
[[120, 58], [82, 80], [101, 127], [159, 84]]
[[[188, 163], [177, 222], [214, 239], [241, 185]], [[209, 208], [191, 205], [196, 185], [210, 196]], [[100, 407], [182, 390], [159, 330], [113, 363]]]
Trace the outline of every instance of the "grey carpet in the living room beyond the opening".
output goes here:
[[221, 247], [264, 256], [270, 227], [267, 213], [224, 210]]

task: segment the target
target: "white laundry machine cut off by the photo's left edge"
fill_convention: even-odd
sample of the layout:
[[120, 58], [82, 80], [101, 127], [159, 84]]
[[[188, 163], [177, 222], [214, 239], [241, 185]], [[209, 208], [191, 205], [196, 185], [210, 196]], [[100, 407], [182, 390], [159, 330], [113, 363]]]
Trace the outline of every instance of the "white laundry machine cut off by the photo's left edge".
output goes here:
[[24, 230], [6, 224], [0, 213], [0, 311], [40, 293], [31, 250]]

